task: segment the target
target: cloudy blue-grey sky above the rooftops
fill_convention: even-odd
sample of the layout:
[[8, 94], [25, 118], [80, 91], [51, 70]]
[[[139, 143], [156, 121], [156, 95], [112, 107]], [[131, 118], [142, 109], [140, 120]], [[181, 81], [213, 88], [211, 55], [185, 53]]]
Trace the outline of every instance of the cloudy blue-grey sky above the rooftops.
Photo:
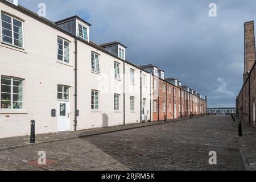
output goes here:
[[[256, 18], [256, 1], [238, 0], [19, 0], [52, 21], [79, 15], [92, 24], [90, 40], [117, 40], [135, 64], [155, 64], [207, 95], [210, 107], [235, 106], [242, 86], [243, 23]], [[209, 3], [217, 17], [210, 18]]]

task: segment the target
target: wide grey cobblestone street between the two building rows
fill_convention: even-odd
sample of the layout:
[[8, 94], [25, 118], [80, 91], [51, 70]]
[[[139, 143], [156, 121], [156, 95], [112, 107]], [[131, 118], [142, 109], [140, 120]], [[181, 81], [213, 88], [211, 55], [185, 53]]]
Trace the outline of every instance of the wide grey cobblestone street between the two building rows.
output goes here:
[[[250, 134], [253, 133], [256, 131], [251, 128]], [[229, 116], [210, 116], [2, 150], [0, 169], [244, 170], [240, 150], [246, 152], [249, 143], [245, 139], [246, 133], [242, 140], [237, 137]], [[255, 150], [249, 149], [250, 163], [254, 164]], [[38, 151], [45, 151], [47, 159], [57, 163], [40, 168], [29, 166], [27, 162], [38, 160]], [[210, 151], [217, 152], [215, 166], [208, 163]]]

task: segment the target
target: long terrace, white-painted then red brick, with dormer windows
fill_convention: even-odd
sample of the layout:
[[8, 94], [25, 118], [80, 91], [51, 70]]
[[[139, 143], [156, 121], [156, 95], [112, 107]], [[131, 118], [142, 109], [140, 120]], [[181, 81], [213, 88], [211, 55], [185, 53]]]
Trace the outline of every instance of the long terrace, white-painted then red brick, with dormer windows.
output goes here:
[[126, 60], [123, 44], [91, 42], [79, 16], [53, 23], [4, 0], [0, 11], [0, 138], [30, 134], [32, 119], [42, 134], [206, 114], [201, 96]]

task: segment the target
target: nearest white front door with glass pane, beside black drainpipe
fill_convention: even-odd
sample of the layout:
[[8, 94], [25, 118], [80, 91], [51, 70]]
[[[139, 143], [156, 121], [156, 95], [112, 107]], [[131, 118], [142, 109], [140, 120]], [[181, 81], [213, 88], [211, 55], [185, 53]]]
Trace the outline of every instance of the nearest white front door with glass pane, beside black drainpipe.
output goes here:
[[69, 102], [58, 102], [57, 108], [57, 131], [70, 130]]

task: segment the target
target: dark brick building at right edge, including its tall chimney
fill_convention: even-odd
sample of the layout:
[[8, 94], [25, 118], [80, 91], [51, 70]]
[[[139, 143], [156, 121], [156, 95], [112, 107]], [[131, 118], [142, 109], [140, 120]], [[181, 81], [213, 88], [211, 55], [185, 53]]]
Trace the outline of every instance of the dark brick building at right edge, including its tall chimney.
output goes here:
[[255, 123], [255, 34], [254, 22], [246, 22], [245, 28], [245, 60], [243, 86], [236, 100], [237, 117], [256, 126]]

